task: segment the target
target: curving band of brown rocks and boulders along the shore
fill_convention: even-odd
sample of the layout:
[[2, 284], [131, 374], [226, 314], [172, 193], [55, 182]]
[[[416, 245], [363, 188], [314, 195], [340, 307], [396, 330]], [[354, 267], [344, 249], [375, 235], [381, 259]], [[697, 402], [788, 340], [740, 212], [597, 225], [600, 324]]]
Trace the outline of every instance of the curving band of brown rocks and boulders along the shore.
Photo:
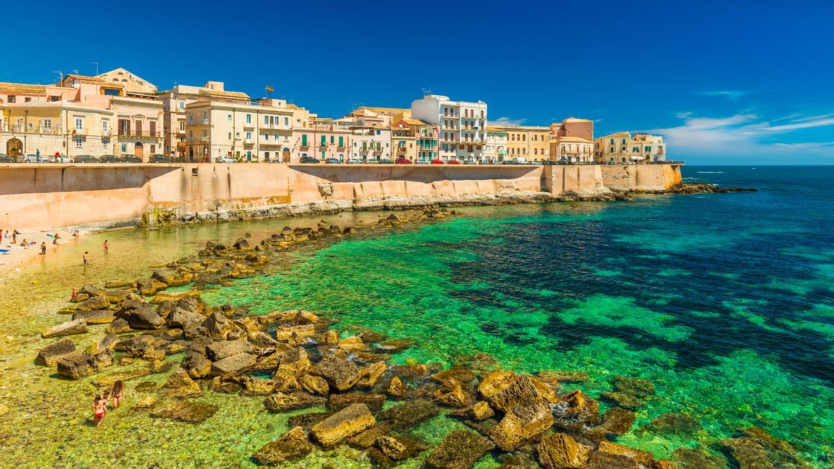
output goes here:
[[[254, 452], [254, 461], [267, 466], [342, 445], [378, 467], [412, 459], [430, 468], [470, 467], [487, 453], [504, 467], [711, 468], [727, 461], [742, 468], [806, 466], [788, 443], [757, 427], [716, 440], [711, 447], [718, 453], [681, 448], [670, 461], [611, 441], [631, 431], [635, 411], [654, 396], [650, 381], [615, 376], [615, 391], [599, 396], [610, 404], [603, 412], [584, 392], [563, 390], [585, 381], [582, 371], [518, 374], [501, 370], [485, 354], [459, 356], [445, 370], [431, 363], [389, 365], [394, 354], [413, 345], [410, 340], [377, 331], [343, 336], [334, 320], [310, 311], [249, 315], [241, 306], [212, 307], [200, 299], [203, 286], [259, 275], [277, 252], [309, 240], [454, 214], [425, 209], [389, 214], [376, 224], [287, 227], [259, 244], [246, 238], [228, 246], [208, 243], [198, 255], [158, 266], [146, 279], [84, 285], [77, 301], [58, 311], [72, 320], [44, 330], [43, 337], [91, 328], [101, 328], [103, 336], [85, 350], [76, 350], [67, 338], [55, 341], [40, 351], [36, 363], [72, 380], [129, 365], [129, 371], [95, 376], [96, 384], [124, 381], [133, 396], [141, 396], [133, 401], [133, 411], [193, 425], [218, 410], [193, 400], [205, 390], [264, 396], [264, 412], [310, 409], [289, 417], [290, 430]], [[194, 290], [166, 291], [191, 284]], [[177, 366], [167, 356], [182, 359]], [[137, 383], [171, 368], [162, 386]], [[468, 430], [450, 431], [432, 447], [414, 429], [441, 414]], [[650, 426], [681, 433], [701, 428], [684, 414], [666, 414]]]

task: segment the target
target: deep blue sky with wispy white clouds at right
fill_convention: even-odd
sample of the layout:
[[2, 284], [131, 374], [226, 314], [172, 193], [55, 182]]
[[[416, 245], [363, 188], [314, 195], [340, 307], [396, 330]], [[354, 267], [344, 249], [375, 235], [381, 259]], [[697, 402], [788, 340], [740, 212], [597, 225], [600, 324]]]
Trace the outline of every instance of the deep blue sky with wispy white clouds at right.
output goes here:
[[98, 62], [162, 89], [271, 84], [328, 117], [431, 88], [493, 121], [664, 134], [691, 164], [834, 164], [834, 3], [573, 3], [14, 2], [0, 81]]

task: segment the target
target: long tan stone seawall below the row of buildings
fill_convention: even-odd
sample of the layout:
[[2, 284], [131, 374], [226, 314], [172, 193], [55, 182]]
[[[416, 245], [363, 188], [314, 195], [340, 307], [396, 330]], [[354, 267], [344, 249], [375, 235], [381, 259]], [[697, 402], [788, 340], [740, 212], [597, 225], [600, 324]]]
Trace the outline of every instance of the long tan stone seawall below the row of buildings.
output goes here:
[[3, 229], [101, 229], [668, 189], [680, 166], [8, 164]]

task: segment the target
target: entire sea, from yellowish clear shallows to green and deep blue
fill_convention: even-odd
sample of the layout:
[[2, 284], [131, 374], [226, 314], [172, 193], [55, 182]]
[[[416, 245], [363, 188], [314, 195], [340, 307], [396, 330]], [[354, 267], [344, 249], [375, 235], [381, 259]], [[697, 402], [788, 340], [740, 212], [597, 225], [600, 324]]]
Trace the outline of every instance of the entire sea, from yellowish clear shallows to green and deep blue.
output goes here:
[[[456, 355], [485, 351], [518, 371], [587, 371], [591, 379], [582, 387], [594, 396], [610, 391], [613, 376], [648, 378], [657, 395], [637, 412], [635, 430], [620, 437], [624, 444], [667, 457], [676, 447], [708, 446], [735, 428], [756, 425], [825, 466], [834, 451], [834, 194], [828, 188], [834, 168], [685, 172], [761, 191], [644, 196], [578, 208], [465, 209], [439, 223], [287, 253], [269, 275], [203, 297], [255, 312], [316, 310], [338, 319], [343, 330], [369, 328], [416, 340], [394, 362], [448, 365]], [[349, 224], [376, 216], [328, 218]], [[96, 376], [60, 381], [33, 366], [38, 348], [51, 341], [35, 333], [67, 319], [54, 311], [73, 286], [147, 276], [149, 264], [193, 254], [205, 240], [228, 242], [244, 232], [259, 240], [285, 224], [303, 222], [91, 235], [2, 280], [0, 402], [11, 409], [0, 416], [2, 460], [24, 466], [250, 464], [254, 450], [286, 430], [286, 417], [267, 414], [262, 398], [207, 392], [200, 400], [219, 404], [220, 411], [199, 426], [122, 409], [105, 421], [102, 440], [85, 425]], [[104, 238], [110, 254], [93, 255], [84, 270], [81, 253], [100, 252]], [[86, 345], [99, 335], [73, 340]], [[164, 376], [129, 381], [128, 391]], [[128, 396], [128, 408], [136, 397]], [[639, 430], [664, 412], [693, 416], [704, 431], [691, 437]], [[441, 417], [420, 433], [439, 441], [455, 425]], [[314, 458], [363, 464], [353, 460], [355, 453], [343, 453]], [[488, 456], [480, 466], [495, 461]]]

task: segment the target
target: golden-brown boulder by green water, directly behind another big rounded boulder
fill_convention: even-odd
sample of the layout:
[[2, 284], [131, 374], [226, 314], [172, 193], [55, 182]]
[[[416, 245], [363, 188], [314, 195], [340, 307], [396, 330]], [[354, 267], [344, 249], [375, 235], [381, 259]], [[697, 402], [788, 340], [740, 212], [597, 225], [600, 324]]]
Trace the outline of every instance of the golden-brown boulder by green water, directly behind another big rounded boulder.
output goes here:
[[493, 371], [478, 385], [478, 391], [490, 406], [498, 411], [509, 411], [526, 401], [541, 401], [550, 404], [560, 402], [559, 396], [545, 383], [527, 375], [516, 375], [512, 371]]

